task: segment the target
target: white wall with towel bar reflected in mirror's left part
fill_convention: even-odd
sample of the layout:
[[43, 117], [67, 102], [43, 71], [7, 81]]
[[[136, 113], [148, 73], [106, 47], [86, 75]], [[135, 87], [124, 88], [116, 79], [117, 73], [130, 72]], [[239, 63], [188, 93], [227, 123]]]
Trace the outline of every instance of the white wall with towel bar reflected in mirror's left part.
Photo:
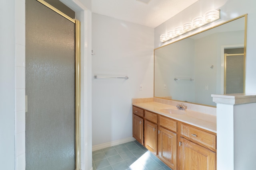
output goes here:
[[[186, 47], [186, 48], [184, 48]], [[195, 102], [194, 79], [195, 45], [193, 39], [184, 39], [155, 50], [155, 96]], [[164, 90], [166, 84], [166, 90]]]

